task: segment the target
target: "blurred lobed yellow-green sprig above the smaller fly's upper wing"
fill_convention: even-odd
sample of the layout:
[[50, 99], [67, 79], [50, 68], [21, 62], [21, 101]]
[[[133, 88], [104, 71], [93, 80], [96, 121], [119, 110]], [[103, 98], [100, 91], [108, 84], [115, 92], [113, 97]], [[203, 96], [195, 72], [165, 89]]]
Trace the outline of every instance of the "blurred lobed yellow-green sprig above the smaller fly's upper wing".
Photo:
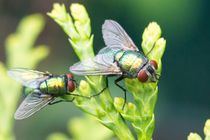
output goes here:
[[[40, 14], [34, 14], [21, 20], [17, 32], [6, 39], [7, 65], [11, 67], [34, 68], [49, 54], [45, 45], [33, 48], [35, 41], [45, 25]], [[21, 48], [21, 49], [20, 49]]]

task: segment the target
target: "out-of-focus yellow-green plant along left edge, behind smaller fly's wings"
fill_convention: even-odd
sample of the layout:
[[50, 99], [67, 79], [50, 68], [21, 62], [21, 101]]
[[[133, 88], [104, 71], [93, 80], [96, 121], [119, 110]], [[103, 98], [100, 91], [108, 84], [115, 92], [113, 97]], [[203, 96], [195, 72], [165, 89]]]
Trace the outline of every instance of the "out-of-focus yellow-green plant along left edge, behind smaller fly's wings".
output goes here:
[[0, 139], [12, 140], [14, 111], [21, 97], [21, 86], [7, 75], [7, 70], [15, 67], [34, 69], [48, 55], [45, 45], [33, 47], [44, 27], [40, 14], [23, 18], [17, 31], [6, 39], [6, 63], [0, 62]]

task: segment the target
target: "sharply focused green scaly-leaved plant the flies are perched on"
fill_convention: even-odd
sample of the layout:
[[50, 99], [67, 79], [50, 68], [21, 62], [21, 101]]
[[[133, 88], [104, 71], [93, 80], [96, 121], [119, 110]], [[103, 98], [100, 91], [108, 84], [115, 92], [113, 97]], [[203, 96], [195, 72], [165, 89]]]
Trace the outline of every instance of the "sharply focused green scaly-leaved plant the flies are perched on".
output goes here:
[[[83, 61], [94, 56], [90, 19], [84, 6], [80, 4], [72, 4], [70, 11], [71, 15], [63, 4], [56, 3], [48, 15], [68, 35], [75, 53]], [[161, 58], [166, 46], [166, 41], [160, 37], [161, 29], [155, 22], [149, 24], [142, 37], [142, 49], [145, 54], [154, 46], [148, 57], [158, 62], [159, 74], [161, 74]], [[74, 103], [112, 130], [121, 140], [135, 139], [125, 120], [132, 124], [139, 140], [150, 140], [154, 130], [154, 108], [157, 100], [158, 82], [143, 84], [136, 79], [126, 79], [125, 84], [134, 97], [134, 103], [126, 103], [124, 110], [122, 110], [123, 98], [116, 97], [113, 100], [109, 89], [106, 89], [98, 99], [89, 100], [77, 97]], [[104, 86], [105, 78], [103, 76], [86, 76], [86, 80], [80, 82], [75, 93], [89, 96], [98, 93]]]

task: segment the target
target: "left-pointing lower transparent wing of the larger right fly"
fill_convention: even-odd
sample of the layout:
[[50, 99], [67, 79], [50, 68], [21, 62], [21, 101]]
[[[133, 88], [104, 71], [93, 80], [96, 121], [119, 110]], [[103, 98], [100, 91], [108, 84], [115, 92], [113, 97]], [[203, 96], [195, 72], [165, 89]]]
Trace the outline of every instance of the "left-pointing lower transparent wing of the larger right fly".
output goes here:
[[103, 48], [96, 57], [78, 62], [70, 67], [70, 71], [77, 75], [120, 75], [120, 68], [114, 63], [117, 49]]

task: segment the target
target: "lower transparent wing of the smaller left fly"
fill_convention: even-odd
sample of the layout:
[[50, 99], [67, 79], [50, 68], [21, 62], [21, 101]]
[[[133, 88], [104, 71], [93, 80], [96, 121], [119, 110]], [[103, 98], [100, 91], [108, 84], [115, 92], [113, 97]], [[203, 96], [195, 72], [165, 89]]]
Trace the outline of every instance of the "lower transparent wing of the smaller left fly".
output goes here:
[[20, 104], [14, 117], [16, 120], [26, 119], [48, 105], [54, 99], [55, 98], [51, 95], [31, 93]]

